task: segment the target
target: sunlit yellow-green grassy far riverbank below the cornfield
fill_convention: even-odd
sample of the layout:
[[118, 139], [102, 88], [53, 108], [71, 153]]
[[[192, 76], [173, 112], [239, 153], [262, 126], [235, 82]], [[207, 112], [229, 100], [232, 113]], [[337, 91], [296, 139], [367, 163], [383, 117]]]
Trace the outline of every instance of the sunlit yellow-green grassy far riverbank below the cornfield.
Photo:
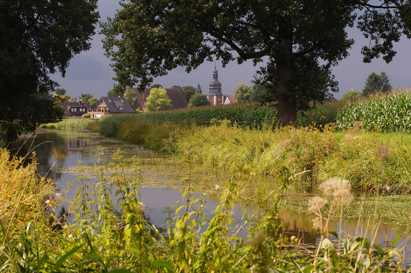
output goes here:
[[[57, 123], [68, 128], [71, 120]], [[82, 123], [83, 127], [78, 124]], [[316, 187], [329, 177], [349, 179], [354, 189], [380, 194], [411, 192], [411, 137], [407, 134], [335, 132], [325, 125], [294, 129], [272, 129], [231, 125], [228, 121], [210, 126], [129, 120], [109, 116], [92, 121], [77, 119], [76, 126], [128, 141], [181, 158], [190, 154], [196, 164], [229, 169], [234, 158], [261, 175], [275, 173], [277, 161], [288, 161], [296, 172], [311, 170], [299, 180]], [[74, 127], [74, 126], [73, 126]]]

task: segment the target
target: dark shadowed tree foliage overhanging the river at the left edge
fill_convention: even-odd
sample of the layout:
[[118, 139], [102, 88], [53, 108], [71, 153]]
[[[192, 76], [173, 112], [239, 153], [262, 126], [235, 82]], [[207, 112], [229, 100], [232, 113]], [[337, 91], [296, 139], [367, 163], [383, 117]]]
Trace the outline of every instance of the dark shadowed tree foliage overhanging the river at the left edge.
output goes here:
[[99, 18], [97, 0], [0, 2], [0, 126], [11, 142], [58, 116], [51, 92], [69, 60], [90, 49]]

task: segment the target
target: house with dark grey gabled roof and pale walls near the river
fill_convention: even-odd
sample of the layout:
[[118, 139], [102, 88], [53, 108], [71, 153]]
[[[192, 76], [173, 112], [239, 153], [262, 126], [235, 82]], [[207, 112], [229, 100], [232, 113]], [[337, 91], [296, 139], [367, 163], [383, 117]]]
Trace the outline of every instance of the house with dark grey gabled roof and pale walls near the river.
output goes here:
[[101, 97], [94, 109], [88, 110], [90, 118], [101, 118], [111, 114], [134, 113], [124, 97]]

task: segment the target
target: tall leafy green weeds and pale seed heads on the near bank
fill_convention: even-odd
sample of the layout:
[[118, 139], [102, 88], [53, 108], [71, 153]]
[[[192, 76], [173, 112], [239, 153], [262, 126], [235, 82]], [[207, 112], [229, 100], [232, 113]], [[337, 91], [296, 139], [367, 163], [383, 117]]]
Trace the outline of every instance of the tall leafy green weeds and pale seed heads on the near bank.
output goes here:
[[[102, 150], [99, 153], [102, 155]], [[342, 180], [324, 184], [324, 193], [331, 195], [329, 200], [320, 197], [310, 201], [310, 211], [318, 215], [314, 227], [320, 230], [321, 240], [316, 251], [307, 257], [301, 253], [298, 238], [277, 233], [278, 208], [296, 177], [287, 162], [276, 164], [278, 184], [262, 185], [255, 194], [256, 208], [252, 209], [245, 189], [254, 174], [234, 161], [220, 204], [209, 215], [203, 212], [204, 188], [209, 185], [193, 181], [189, 169], [187, 178], [183, 179], [186, 185], [183, 204], [176, 204], [173, 211], [166, 210], [168, 217], [162, 233], [143, 217], [145, 205], [139, 195], [138, 163], [125, 162], [120, 151], [112, 160], [118, 171], [106, 176], [104, 165], [97, 166], [99, 183], [86, 184], [87, 178], [79, 178], [72, 224], [63, 221], [62, 229], [53, 231], [46, 213], [41, 212], [44, 208], [34, 204], [39, 213], [22, 223], [19, 236], [3, 233], [6, 236], [0, 236], [0, 269], [43, 273], [388, 273], [402, 270], [402, 255], [394, 248], [399, 237], [390, 248], [383, 250], [362, 233], [341, 236], [330, 231], [330, 215], [350, 202], [349, 184]], [[190, 167], [190, 160], [185, 161]], [[123, 173], [121, 169], [126, 166], [133, 167], [135, 175]], [[119, 212], [112, 203], [110, 187], [113, 186]], [[197, 197], [194, 190], [204, 193]], [[55, 211], [58, 200], [48, 201], [44, 204], [47, 210]], [[324, 213], [327, 201], [331, 203], [328, 217]], [[235, 206], [242, 206], [239, 223], [233, 219]], [[245, 229], [247, 238], [239, 236]], [[375, 226], [370, 229], [375, 230]], [[330, 234], [337, 238], [336, 246], [328, 239]], [[342, 251], [336, 249], [340, 247]], [[398, 261], [394, 262], [393, 258]]]

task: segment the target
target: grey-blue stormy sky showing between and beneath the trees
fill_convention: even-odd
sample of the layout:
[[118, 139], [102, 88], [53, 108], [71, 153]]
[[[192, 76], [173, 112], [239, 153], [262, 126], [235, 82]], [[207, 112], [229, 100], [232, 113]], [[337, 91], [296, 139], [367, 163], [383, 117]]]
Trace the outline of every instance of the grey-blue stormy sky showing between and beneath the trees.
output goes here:
[[[106, 21], [106, 17], [113, 17], [116, 9], [120, 7], [117, 1], [99, 0], [99, 12], [101, 19]], [[367, 76], [375, 71], [377, 73], [385, 71], [389, 75], [390, 83], [393, 87], [410, 86], [410, 65], [411, 65], [411, 41], [402, 37], [401, 41], [394, 44], [397, 55], [393, 61], [386, 64], [382, 58], [375, 59], [369, 64], [363, 63], [360, 53], [361, 47], [368, 44], [368, 40], [363, 37], [357, 28], [347, 29], [348, 37], [353, 38], [356, 43], [349, 49], [350, 56], [339, 62], [337, 67], [332, 69], [335, 79], [339, 82], [339, 93], [335, 94], [340, 98], [342, 94], [353, 88], [361, 91]], [[105, 96], [107, 90], [113, 87], [114, 72], [109, 66], [110, 60], [106, 58], [102, 49], [102, 35], [96, 34], [92, 40], [92, 47], [89, 51], [84, 51], [74, 56], [70, 61], [65, 78], [61, 74], [54, 74], [51, 78], [60, 83], [62, 88], [67, 89], [67, 95], [79, 97], [80, 93], [92, 93], [95, 97]], [[230, 62], [225, 68], [221, 62], [217, 61], [219, 81], [222, 83], [224, 94], [233, 94], [240, 83], [252, 85], [255, 71], [259, 68], [253, 66], [249, 60], [241, 65], [236, 61]], [[173, 85], [179, 86], [200, 86], [203, 91], [207, 91], [212, 80], [214, 63], [204, 62], [198, 69], [187, 74], [185, 68], [178, 67], [169, 72], [168, 75], [156, 78], [154, 83], [160, 83], [164, 88], [171, 88]]]

